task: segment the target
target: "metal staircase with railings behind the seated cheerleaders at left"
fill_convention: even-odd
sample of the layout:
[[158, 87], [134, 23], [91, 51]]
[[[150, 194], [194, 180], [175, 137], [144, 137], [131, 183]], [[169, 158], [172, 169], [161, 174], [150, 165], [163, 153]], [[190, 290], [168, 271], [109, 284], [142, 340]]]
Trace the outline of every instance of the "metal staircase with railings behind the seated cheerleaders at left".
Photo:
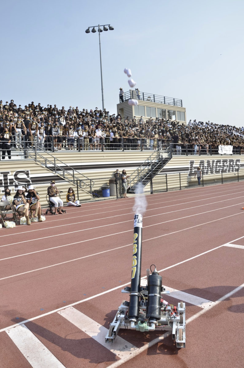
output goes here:
[[[54, 172], [57, 176], [59, 176], [63, 180], [69, 180], [73, 184], [75, 185], [77, 184], [78, 187], [88, 195], [88, 197], [92, 198], [92, 189], [94, 185], [93, 180], [90, 180], [85, 175], [79, 173], [79, 171], [67, 165], [65, 162], [52, 156], [44, 149], [38, 147], [38, 150], [41, 151], [41, 153], [45, 152], [45, 155], [48, 154], [49, 158], [46, 158], [45, 156], [41, 155], [41, 153], [39, 153], [39, 151], [36, 150], [36, 142], [35, 142], [35, 149], [33, 147], [33, 149], [28, 150], [27, 154], [29, 158], [33, 159], [39, 165], [46, 167], [46, 169]], [[87, 179], [89, 184], [84, 181]]]

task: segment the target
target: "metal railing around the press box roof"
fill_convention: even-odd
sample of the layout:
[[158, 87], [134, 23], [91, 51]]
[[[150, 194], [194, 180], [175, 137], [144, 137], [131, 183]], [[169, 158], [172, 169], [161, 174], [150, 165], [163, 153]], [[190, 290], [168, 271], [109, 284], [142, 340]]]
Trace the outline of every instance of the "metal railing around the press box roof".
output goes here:
[[127, 101], [129, 99], [138, 99], [141, 101], [163, 103], [164, 105], [182, 107], [181, 99], [155, 95], [153, 93], [147, 93], [147, 92], [140, 92], [140, 96], [137, 96], [136, 91], [133, 91], [132, 89], [123, 93], [123, 100]]

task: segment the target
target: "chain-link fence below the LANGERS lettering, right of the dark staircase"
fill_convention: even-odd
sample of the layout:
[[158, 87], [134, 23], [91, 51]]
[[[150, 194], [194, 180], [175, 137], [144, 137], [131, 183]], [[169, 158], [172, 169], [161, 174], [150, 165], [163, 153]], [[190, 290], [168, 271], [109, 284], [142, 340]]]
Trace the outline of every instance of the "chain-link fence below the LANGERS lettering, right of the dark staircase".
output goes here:
[[[220, 170], [218, 174], [210, 175], [205, 175], [202, 172], [200, 184], [204, 187], [206, 185], [232, 183], [242, 180], [244, 180], [244, 169], [237, 169], [230, 173], [226, 172], [226, 170]], [[198, 180], [197, 177], [195, 178], [194, 173], [178, 172], [150, 175], [151, 194], [194, 187], [198, 187]]]

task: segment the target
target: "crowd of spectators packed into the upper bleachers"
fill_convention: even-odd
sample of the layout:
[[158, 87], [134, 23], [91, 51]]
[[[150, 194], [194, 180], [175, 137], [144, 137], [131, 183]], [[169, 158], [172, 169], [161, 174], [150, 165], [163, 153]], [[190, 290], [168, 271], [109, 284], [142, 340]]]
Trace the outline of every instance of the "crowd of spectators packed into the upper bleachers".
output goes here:
[[[33, 148], [46, 151], [100, 150], [103, 149], [156, 149], [172, 143], [177, 154], [209, 154], [219, 145], [232, 145], [233, 153], [244, 152], [244, 128], [190, 120], [188, 124], [161, 118], [145, 120], [120, 114], [110, 114], [106, 109], [79, 110], [72, 106], [65, 110], [56, 105], [41, 106], [34, 102], [24, 108], [0, 101], [0, 140], [3, 150], [11, 158], [11, 148], [21, 149], [23, 141]], [[103, 146], [103, 147], [101, 147]]]

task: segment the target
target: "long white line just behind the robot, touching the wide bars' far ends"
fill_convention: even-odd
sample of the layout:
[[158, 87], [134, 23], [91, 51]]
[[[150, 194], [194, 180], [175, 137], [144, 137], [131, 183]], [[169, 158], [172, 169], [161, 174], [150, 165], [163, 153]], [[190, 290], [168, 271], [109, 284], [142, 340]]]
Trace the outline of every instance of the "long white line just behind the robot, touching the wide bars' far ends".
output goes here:
[[[232, 215], [232, 216], [233, 216], [233, 215]], [[228, 216], [228, 217], [229, 217], [229, 216]], [[216, 220], [215, 220], [215, 221], [216, 221]], [[148, 239], [148, 240], [150, 240], [150, 239]], [[233, 240], [233, 241], [234, 241], [234, 240]], [[130, 244], [130, 245], [131, 245], [131, 244]], [[200, 257], [200, 256], [202, 256], [202, 255], [205, 255], [205, 254], [207, 254], [207, 253], [209, 253], [209, 252], [215, 251], [215, 250], [217, 250], [217, 249], [219, 249], [219, 248], [222, 248], [222, 247], [223, 247], [223, 245], [219, 245], [218, 247], [215, 247], [215, 248], [212, 248], [212, 249], [210, 249], [210, 250], [208, 250], [208, 251], [205, 251], [205, 252], [202, 252], [202, 253], [200, 253], [200, 254], [197, 254], [197, 255], [195, 255], [195, 256], [193, 256], [193, 257], [191, 257], [191, 258], [185, 259], [184, 261], [181, 261], [181, 262], [175, 263], [174, 265], [171, 265], [171, 266], [168, 266], [168, 267], [166, 267], [166, 268], [163, 268], [163, 269], [159, 270], [158, 272], [163, 272], [163, 271], [168, 270], [168, 269], [170, 269], [170, 268], [176, 267], [176, 266], [178, 266], [178, 265], [181, 265], [182, 263], [186, 263], [186, 262], [188, 262], [188, 261], [191, 261], [192, 259], [198, 258], [198, 257]], [[10, 277], [11, 277], [11, 276], [10, 276]], [[146, 277], [147, 277], [147, 276], [143, 276], [143, 277], [141, 277], [141, 279], [146, 279]], [[131, 282], [131, 281], [130, 281], [130, 282]], [[55, 313], [55, 312], [62, 311], [62, 309], [66, 309], [66, 308], [69, 308], [69, 307], [73, 307], [74, 305], [81, 304], [81, 303], [83, 303], [83, 302], [86, 302], [86, 301], [88, 301], [88, 300], [91, 300], [91, 299], [97, 298], [97, 297], [102, 296], [102, 295], [104, 295], [104, 294], [111, 293], [111, 291], [115, 291], [115, 290], [117, 290], [117, 289], [120, 289], [120, 288], [123, 288], [124, 286], [129, 285], [129, 284], [130, 284], [130, 282], [128, 282], [128, 283], [126, 283], [126, 284], [122, 284], [122, 285], [116, 286], [116, 287], [114, 287], [114, 288], [112, 288], [112, 289], [109, 289], [109, 290], [105, 290], [105, 291], [103, 291], [102, 293], [99, 293], [99, 294], [96, 294], [96, 295], [94, 295], [94, 296], [91, 296], [91, 297], [88, 297], [88, 298], [85, 298], [85, 299], [79, 300], [79, 301], [74, 302], [74, 303], [72, 303], [72, 304], [66, 305], [65, 307], [57, 308], [57, 309], [54, 309], [53, 311], [43, 313], [43, 314], [41, 314], [41, 315], [39, 315], [39, 316], [32, 317], [32, 318], [30, 318], [30, 319], [26, 319], [25, 321], [22, 321], [22, 322], [19, 322], [19, 323], [15, 323], [14, 325], [11, 325], [11, 326], [8, 326], [8, 327], [5, 327], [5, 328], [1, 329], [1, 330], [0, 330], [0, 332], [3, 332], [3, 331], [6, 331], [6, 330], [8, 330], [8, 329], [10, 329], [10, 328], [14, 328], [14, 327], [16, 327], [16, 326], [22, 325], [23, 323], [27, 323], [27, 322], [30, 322], [30, 321], [34, 321], [35, 319], [38, 319], [38, 318], [41, 318], [41, 317], [48, 316], [48, 315], [53, 314], [53, 313]], [[208, 309], [208, 308], [207, 308], [207, 309]], [[203, 309], [203, 310], [207, 310], [207, 309]]]

